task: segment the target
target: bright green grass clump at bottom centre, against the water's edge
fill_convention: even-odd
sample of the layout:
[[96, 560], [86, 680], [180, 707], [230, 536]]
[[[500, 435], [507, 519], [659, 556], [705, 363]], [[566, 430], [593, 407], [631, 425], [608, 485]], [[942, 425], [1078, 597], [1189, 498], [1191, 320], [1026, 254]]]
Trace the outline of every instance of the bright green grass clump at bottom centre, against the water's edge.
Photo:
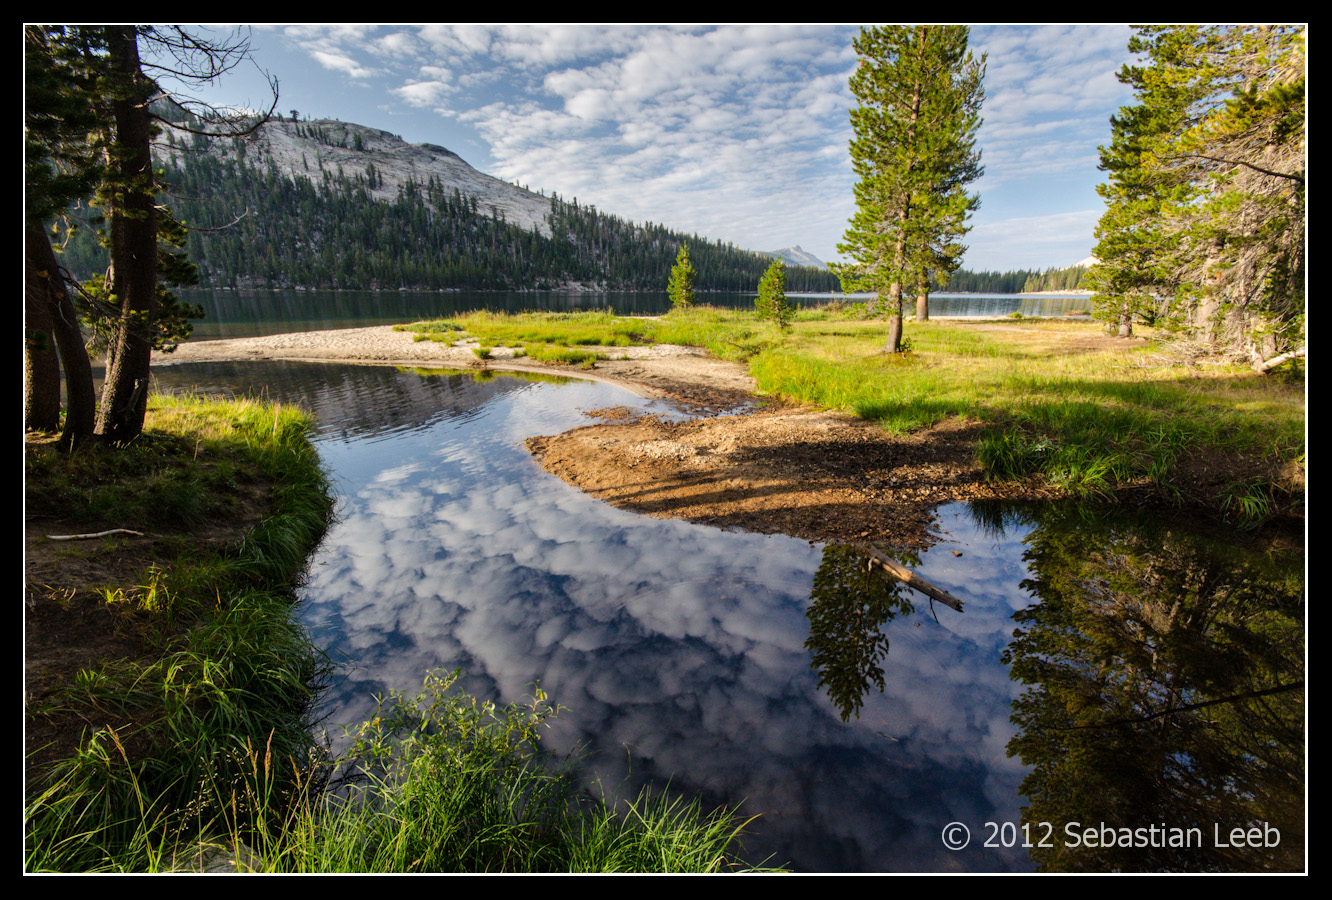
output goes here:
[[557, 710], [538, 690], [496, 707], [433, 672], [357, 730], [348, 791], [325, 793], [260, 855], [302, 872], [717, 872], [734, 816], [641, 795], [617, 813], [583, 793], [539, 735]]

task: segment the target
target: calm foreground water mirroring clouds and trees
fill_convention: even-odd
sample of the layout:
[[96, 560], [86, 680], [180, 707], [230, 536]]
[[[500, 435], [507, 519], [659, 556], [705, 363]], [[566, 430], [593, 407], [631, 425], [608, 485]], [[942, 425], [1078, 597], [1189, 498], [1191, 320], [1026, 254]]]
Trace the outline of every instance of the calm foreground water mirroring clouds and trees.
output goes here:
[[[497, 702], [539, 684], [565, 707], [549, 746], [605, 796], [741, 804], [759, 816], [750, 861], [802, 872], [1303, 867], [1299, 547], [1255, 558], [1076, 507], [946, 506], [939, 543], [903, 558], [966, 602], [931, 610], [846, 549], [639, 517], [547, 475], [525, 438], [611, 405], [675, 414], [607, 385], [157, 374], [316, 413], [338, 521], [301, 615], [345, 667], [332, 722], [437, 667]], [[959, 824], [970, 843], [951, 849]], [[1275, 845], [1216, 845], [1255, 824]], [[1142, 839], [1106, 848], [1119, 828]]]

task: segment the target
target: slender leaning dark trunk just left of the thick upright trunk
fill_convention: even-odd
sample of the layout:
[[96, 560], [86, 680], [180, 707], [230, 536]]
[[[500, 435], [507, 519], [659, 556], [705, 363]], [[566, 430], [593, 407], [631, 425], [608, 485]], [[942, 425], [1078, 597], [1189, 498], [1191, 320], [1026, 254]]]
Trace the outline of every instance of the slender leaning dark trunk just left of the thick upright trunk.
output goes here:
[[[92, 363], [79, 330], [79, 314], [69, 301], [69, 292], [60, 277], [56, 254], [51, 249], [51, 238], [40, 225], [28, 225], [27, 230], [29, 296], [33, 273], [44, 276], [41, 305], [47, 310], [47, 322], [60, 351], [60, 366], [65, 371], [65, 427], [57, 445], [63, 453], [77, 447], [92, 437], [96, 425], [96, 394], [92, 389]], [[29, 298], [31, 302], [31, 298]], [[59, 399], [60, 374], [56, 378]]]

